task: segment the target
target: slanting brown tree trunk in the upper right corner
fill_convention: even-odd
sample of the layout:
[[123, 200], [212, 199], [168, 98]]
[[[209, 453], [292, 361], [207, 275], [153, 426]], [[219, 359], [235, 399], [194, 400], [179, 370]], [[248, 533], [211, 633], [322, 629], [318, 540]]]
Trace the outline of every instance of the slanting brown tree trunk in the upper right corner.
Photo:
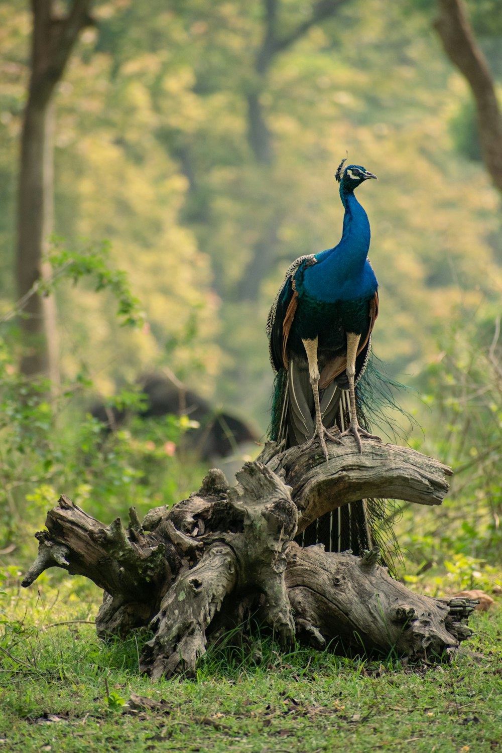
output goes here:
[[473, 93], [485, 167], [502, 192], [502, 115], [488, 63], [476, 43], [463, 0], [438, 0], [438, 8], [434, 27], [446, 54]]

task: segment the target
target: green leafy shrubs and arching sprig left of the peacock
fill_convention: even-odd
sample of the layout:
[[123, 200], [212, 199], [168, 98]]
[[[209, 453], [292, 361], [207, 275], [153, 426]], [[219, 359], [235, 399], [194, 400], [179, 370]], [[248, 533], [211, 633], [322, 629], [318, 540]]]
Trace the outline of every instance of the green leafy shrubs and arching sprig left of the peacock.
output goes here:
[[[126, 273], [109, 263], [108, 251], [108, 244], [83, 252], [53, 249], [47, 292], [53, 294], [68, 278], [74, 283], [94, 279], [95, 291], [109, 290], [116, 298], [117, 318], [137, 325], [138, 300]], [[47, 380], [27, 379], [17, 371], [14, 353], [0, 337], [0, 538], [7, 547], [17, 545], [18, 562], [32, 555], [33, 532], [61, 493], [108, 523], [125, 516], [130, 506], [145, 514], [151, 507], [171, 505], [202, 475], [195, 462], [187, 462], [184, 447], [194, 422], [168, 415], [107, 432], [85, 414], [93, 390], [85, 371], [51, 395]], [[138, 388], [123, 389], [106, 404], [133, 413], [144, 396]]]

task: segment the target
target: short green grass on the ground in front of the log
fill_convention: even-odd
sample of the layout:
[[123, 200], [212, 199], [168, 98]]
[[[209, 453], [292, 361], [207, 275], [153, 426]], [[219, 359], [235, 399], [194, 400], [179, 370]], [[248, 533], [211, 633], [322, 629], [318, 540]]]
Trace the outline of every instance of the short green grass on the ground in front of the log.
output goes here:
[[105, 645], [86, 623], [99, 603], [92, 584], [38, 583], [23, 591], [14, 576], [0, 601], [0, 751], [502, 750], [500, 605], [473, 617], [468, 648], [482, 658], [449, 666], [284, 655], [258, 637], [259, 664], [212, 651], [195, 680], [153, 683], [138, 675], [134, 637]]

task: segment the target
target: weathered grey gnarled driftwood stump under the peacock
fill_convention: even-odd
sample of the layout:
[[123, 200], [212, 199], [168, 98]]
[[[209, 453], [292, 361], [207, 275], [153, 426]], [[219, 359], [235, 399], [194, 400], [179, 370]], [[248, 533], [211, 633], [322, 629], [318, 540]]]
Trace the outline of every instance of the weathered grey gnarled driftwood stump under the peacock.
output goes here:
[[[448, 657], [470, 635], [468, 599], [410, 592], [377, 564], [378, 550], [302, 549], [293, 538], [322, 514], [367, 496], [440, 505], [451, 474], [414, 450], [364, 442], [283, 453], [266, 445], [229, 489], [209, 471], [199, 492], [173, 508], [155, 508], [142, 523], [105, 526], [65, 496], [38, 532], [29, 586], [47, 567], [85, 575], [105, 591], [99, 636], [126, 636], [149, 626], [140, 668], [152, 677], [193, 673], [208, 641], [251, 612], [283, 645], [300, 642], [339, 651], [395, 651], [406, 660]], [[336, 454], [335, 454], [336, 453]]]

